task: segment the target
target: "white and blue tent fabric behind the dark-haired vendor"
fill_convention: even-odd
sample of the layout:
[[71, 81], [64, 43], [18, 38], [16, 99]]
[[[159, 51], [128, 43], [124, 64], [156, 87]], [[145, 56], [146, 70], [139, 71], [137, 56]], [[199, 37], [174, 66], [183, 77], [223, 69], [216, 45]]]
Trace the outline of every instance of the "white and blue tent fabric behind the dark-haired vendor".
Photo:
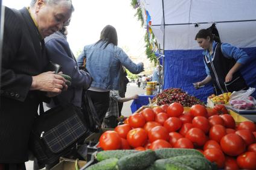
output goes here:
[[194, 90], [192, 85], [206, 76], [202, 48], [194, 38], [213, 23], [222, 42], [243, 48], [253, 58], [242, 74], [249, 86], [256, 86], [255, 0], [139, 0], [139, 4], [145, 20], [148, 11], [150, 27], [164, 49], [164, 89], [180, 87], [204, 100], [213, 93], [211, 86]]

